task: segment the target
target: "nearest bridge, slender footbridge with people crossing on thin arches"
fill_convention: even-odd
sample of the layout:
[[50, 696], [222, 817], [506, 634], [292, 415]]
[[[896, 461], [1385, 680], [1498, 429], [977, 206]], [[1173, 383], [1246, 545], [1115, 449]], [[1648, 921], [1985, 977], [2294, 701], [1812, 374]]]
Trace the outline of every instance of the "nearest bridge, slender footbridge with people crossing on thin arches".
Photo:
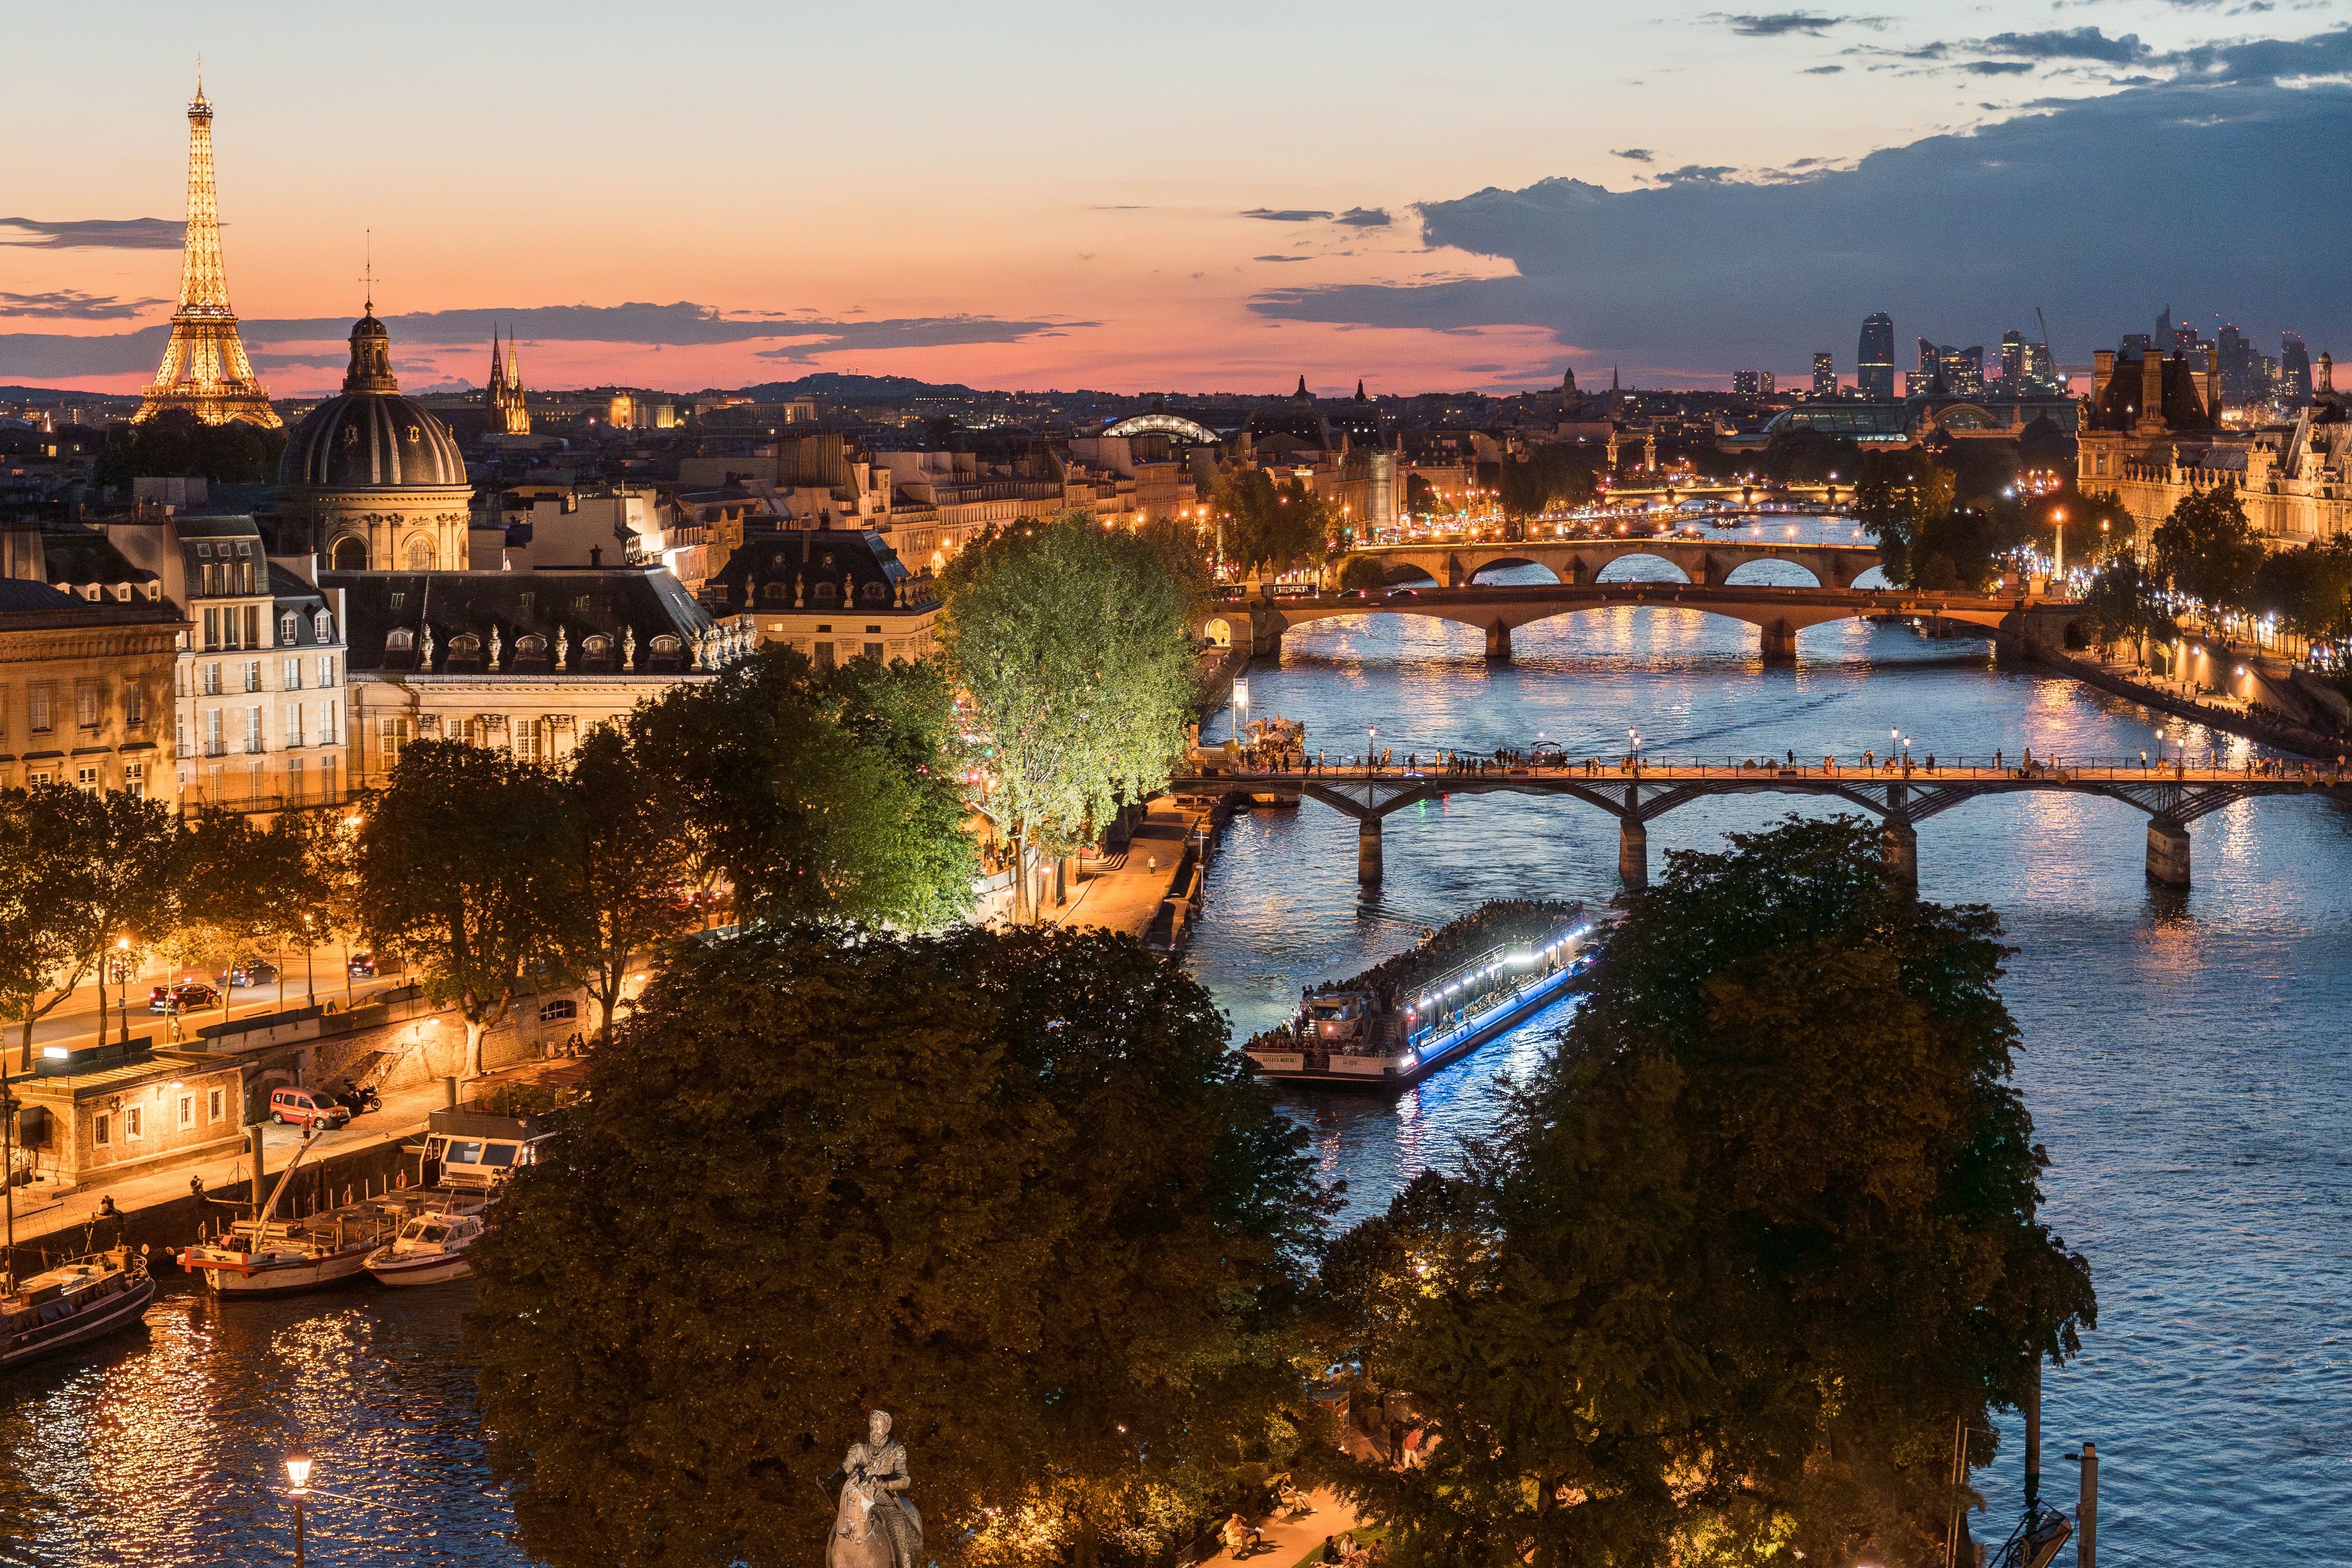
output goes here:
[[1548, 795], [1576, 799], [1618, 818], [1618, 875], [1628, 889], [1649, 886], [1649, 823], [1675, 806], [1710, 795], [1816, 795], [1879, 818], [1886, 865], [1907, 882], [1919, 879], [1917, 825], [1985, 795], [2065, 792], [2105, 795], [2147, 813], [2147, 879], [2164, 886], [2190, 884], [2190, 823], [2241, 799], [2272, 795], [2321, 795], [2352, 804], [2352, 780], [2317, 764], [2279, 764], [2279, 776], [2232, 769], [2131, 766], [1917, 766], [1799, 764], [1708, 766], [1642, 764], [1606, 766], [1559, 762], [1489, 771], [1444, 769], [1312, 769], [1247, 771], [1223, 752], [1200, 750], [1190, 773], [1169, 780], [1176, 795], [1247, 795], [1261, 802], [1298, 804], [1317, 799], [1357, 820], [1357, 879], [1381, 879], [1381, 820], [1449, 795]]

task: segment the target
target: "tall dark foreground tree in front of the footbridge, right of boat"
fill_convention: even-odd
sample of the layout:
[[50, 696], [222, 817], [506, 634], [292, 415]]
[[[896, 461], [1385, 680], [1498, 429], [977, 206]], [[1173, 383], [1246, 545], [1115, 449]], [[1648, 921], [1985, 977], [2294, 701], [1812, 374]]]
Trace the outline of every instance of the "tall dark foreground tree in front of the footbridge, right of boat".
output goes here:
[[1392, 1561], [1936, 1561], [1955, 1425], [2096, 1312], [2004, 952], [1856, 818], [1670, 856], [1465, 1178], [1334, 1251], [1327, 1349], [1435, 1434], [1341, 1465]]

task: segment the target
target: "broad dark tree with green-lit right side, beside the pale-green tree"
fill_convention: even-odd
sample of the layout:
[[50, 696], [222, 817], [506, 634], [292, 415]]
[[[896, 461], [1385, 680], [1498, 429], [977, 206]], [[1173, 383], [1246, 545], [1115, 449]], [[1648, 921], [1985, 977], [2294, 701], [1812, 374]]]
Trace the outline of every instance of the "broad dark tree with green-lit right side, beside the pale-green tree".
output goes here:
[[753, 922], [804, 914], [936, 924], [969, 907], [953, 701], [938, 665], [851, 661], [818, 677], [764, 649], [630, 717], [694, 867]]

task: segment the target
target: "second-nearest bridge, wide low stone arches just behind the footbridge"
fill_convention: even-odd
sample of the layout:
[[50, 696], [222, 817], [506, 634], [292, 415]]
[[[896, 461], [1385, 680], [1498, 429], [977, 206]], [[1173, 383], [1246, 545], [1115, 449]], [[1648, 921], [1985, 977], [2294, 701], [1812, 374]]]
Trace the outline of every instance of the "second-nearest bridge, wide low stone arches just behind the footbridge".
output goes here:
[[1599, 583], [1592, 588], [1390, 588], [1343, 595], [1221, 599], [1192, 614], [1207, 642], [1247, 646], [1251, 658], [1282, 658], [1282, 635], [1336, 616], [1428, 616], [1475, 625], [1486, 635], [1486, 658], [1510, 658], [1510, 632], [1534, 621], [1592, 609], [1649, 604], [1698, 609], [1745, 621], [1764, 632], [1766, 663], [1795, 663], [1797, 632], [1856, 616], [1931, 616], [1962, 621], [2027, 642], [2063, 644], [2072, 604], [2027, 597], [1919, 592], [1910, 588], [1712, 588], [1693, 583]]

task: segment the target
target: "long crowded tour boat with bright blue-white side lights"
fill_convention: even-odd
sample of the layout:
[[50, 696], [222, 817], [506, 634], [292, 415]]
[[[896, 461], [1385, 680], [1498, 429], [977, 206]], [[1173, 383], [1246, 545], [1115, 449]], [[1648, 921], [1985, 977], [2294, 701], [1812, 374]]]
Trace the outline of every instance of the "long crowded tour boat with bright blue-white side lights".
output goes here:
[[1557, 1001], [1592, 961], [1581, 903], [1494, 900], [1352, 980], [1242, 1051], [1261, 1079], [1399, 1091]]

